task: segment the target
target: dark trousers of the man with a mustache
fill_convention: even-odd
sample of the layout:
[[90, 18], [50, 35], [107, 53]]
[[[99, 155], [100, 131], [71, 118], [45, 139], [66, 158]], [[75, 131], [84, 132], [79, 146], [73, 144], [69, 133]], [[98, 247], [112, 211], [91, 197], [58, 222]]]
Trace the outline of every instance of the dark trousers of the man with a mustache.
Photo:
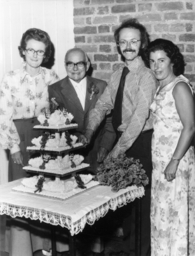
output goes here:
[[[140, 159], [140, 163], [143, 165], [149, 184], [145, 186], [145, 196], [141, 200], [141, 256], [150, 255], [150, 196], [151, 196], [151, 179], [152, 179], [152, 153], [151, 153], [151, 141], [153, 130], [145, 133], [141, 133], [140, 136], [134, 141], [129, 150], [126, 151], [126, 156], [134, 157], [134, 159]], [[122, 209], [123, 208], [123, 209]], [[122, 227], [124, 230], [124, 252], [134, 255], [135, 237], [134, 237], [134, 220], [135, 220], [135, 207], [130, 203], [121, 210], [124, 211], [124, 219]]]

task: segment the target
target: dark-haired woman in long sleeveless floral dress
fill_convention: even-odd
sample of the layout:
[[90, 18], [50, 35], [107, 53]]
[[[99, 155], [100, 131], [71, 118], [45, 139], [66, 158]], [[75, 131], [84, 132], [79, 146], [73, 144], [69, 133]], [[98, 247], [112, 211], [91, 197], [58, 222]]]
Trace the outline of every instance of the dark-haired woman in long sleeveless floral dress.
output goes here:
[[148, 45], [148, 61], [159, 81], [150, 107], [152, 137], [152, 256], [195, 255], [195, 131], [192, 88], [182, 76], [177, 45], [163, 39]]

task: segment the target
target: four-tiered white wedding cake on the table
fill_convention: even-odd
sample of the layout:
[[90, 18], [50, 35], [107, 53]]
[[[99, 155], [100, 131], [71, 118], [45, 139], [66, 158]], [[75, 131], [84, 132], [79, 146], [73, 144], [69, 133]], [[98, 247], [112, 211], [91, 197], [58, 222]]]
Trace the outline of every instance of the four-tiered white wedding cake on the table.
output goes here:
[[[62, 111], [55, 109], [54, 104], [52, 106], [52, 111], [51, 108], [46, 109], [45, 113], [38, 116], [40, 125], [35, 125], [33, 128], [45, 132], [32, 140], [34, 146], [27, 147], [30, 152], [40, 152], [40, 157], [31, 158], [29, 166], [23, 169], [38, 173], [38, 176], [23, 179], [22, 184], [13, 188], [13, 191], [66, 199], [83, 189], [98, 185], [99, 182], [92, 180], [93, 176], [90, 174], [76, 174], [89, 167], [89, 164], [82, 163], [83, 156], [69, 153], [83, 147], [82, 143], [76, 143], [78, 138], [68, 132], [69, 129], [75, 129], [78, 125], [71, 124], [73, 115], [64, 109]], [[68, 174], [71, 174], [71, 179], [60, 179]], [[45, 178], [45, 175], [55, 176], [55, 180], [50, 180], [50, 177]]]

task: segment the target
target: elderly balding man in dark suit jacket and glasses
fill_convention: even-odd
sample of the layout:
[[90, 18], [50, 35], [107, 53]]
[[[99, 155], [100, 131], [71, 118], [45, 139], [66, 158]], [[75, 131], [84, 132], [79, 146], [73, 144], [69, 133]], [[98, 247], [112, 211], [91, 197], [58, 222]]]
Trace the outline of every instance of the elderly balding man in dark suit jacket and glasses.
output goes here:
[[[90, 110], [96, 105], [107, 84], [103, 80], [86, 76], [90, 63], [82, 49], [74, 48], [66, 53], [65, 67], [68, 76], [49, 86], [48, 93], [50, 99], [55, 98], [61, 108], [73, 114], [73, 122], [78, 124], [74, 134], [79, 138], [87, 128]], [[82, 149], [85, 163], [90, 164], [88, 170], [96, 173], [98, 163], [102, 163], [112, 149], [115, 136], [112, 118], [108, 116], [99, 127], [90, 147]]]

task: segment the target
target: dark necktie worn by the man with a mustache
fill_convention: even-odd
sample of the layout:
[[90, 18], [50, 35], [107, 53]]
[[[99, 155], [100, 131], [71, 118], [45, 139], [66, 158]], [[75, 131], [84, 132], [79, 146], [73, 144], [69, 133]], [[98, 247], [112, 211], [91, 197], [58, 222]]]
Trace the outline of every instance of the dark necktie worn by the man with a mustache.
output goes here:
[[113, 108], [112, 125], [115, 130], [122, 124], [122, 98], [123, 98], [124, 84], [125, 84], [126, 76], [128, 73], [129, 73], [129, 68], [124, 67], [122, 70], [122, 76], [120, 77], [119, 88], [117, 90], [115, 105]]

